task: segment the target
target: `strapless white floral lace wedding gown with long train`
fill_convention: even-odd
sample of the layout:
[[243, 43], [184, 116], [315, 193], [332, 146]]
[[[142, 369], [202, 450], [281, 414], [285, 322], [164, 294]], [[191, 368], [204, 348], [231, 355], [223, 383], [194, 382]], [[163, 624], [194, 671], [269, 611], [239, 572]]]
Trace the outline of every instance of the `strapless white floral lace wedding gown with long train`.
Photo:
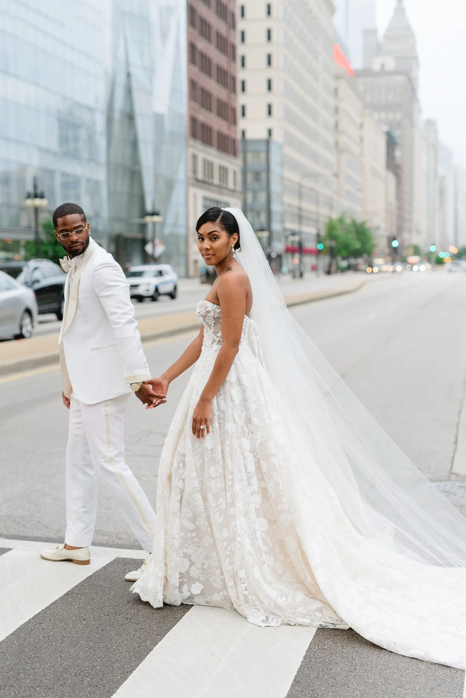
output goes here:
[[153, 607], [234, 608], [261, 626], [351, 627], [466, 669], [466, 570], [416, 562], [356, 531], [283, 407], [248, 317], [211, 433], [192, 435], [222, 343], [220, 307], [201, 301], [197, 316], [202, 353], [165, 441], [154, 551], [133, 591]]

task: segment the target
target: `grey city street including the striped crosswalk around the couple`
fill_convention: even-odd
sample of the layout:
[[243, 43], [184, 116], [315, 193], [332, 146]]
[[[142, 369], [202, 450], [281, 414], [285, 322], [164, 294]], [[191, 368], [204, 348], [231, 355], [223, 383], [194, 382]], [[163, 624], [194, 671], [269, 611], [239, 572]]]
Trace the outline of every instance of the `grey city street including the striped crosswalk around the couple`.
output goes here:
[[[190, 309], [208, 290], [187, 287], [176, 301], [150, 306]], [[283, 288], [284, 295], [300, 291], [299, 284]], [[139, 316], [146, 306], [137, 306]], [[389, 274], [292, 314], [466, 514], [465, 311], [466, 274], [440, 270]], [[152, 374], [193, 336], [146, 343]], [[129, 404], [127, 461], [152, 503], [160, 450], [187, 380], [178, 378], [157, 410]], [[466, 696], [463, 671], [384, 651], [352, 630], [262, 629], [234, 611], [143, 604], [123, 574], [144, 555], [102, 487], [91, 565], [40, 560], [43, 542], [63, 540], [67, 417], [56, 366], [0, 378], [0, 698]]]

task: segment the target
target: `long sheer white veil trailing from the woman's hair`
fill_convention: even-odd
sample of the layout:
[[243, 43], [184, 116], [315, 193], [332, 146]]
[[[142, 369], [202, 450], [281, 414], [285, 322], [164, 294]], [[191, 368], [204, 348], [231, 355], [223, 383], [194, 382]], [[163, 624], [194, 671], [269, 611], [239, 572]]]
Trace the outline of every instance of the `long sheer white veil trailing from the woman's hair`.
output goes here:
[[240, 209], [225, 210], [239, 223], [237, 257], [253, 289], [252, 317], [266, 370], [354, 528], [418, 562], [466, 567], [466, 519], [393, 443], [299, 327], [250, 223]]

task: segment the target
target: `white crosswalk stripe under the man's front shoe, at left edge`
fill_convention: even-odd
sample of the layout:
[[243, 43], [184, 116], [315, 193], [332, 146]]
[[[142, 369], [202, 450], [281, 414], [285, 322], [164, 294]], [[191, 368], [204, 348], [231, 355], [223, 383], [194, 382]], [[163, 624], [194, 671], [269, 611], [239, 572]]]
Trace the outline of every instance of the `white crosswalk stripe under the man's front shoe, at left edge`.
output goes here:
[[54, 563], [28, 547], [0, 556], [0, 641], [112, 559], [94, 555], [90, 565]]

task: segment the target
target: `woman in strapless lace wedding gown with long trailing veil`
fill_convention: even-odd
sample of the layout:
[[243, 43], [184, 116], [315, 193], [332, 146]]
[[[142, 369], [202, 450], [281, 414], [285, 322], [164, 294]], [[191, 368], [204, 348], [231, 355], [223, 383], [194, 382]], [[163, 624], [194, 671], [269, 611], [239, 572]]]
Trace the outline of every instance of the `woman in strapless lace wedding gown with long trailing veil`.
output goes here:
[[216, 282], [160, 458], [153, 554], [133, 586], [256, 625], [354, 628], [466, 669], [466, 520], [368, 415], [287, 311], [239, 209], [197, 221]]

